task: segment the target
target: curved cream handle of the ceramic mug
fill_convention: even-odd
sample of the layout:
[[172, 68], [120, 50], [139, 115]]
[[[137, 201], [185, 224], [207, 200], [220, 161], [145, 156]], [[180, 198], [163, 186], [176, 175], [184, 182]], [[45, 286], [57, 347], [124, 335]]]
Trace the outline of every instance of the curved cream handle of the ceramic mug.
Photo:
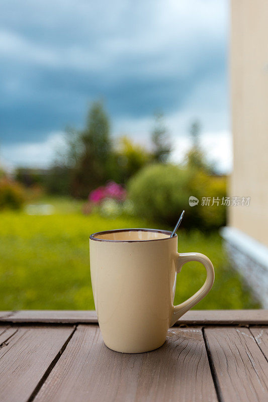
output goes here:
[[182, 317], [188, 310], [192, 309], [203, 297], [205, 297], [214, 283], [214, 268], [210, 259], [201, 253], [177, 253], [177, 273], [181, 272], [182, 266], [189, 261], [201, 262], [207, 270], [207, 278], [204, 285], [193, 296], [185, 300], [180, 305], [173, 306], [173, 313], [170, 319], [170, 326]]

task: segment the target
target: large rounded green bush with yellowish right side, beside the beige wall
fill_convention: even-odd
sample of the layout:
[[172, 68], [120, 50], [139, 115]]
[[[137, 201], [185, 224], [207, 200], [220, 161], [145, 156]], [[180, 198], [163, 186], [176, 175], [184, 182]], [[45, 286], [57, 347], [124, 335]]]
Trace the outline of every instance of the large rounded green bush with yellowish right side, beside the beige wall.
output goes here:
[[[225, 224], [226, 179], [175, 165], [154, 164], [140, 170], [128, 183], [129, 197], [137, 216], [174, 226], [182, 210], [186, 211], [185, 227], [204, 230]], [[199, 204], [189, 206], [189, 197]], [[219, 197], [219, 206], [202, 206], [202, 197]]]

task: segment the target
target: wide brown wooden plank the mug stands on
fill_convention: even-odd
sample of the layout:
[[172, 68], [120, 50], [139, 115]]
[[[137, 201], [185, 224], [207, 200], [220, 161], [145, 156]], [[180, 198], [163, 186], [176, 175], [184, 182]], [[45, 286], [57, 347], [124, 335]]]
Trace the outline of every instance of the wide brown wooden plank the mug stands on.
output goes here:
[[201, 328], [168, 331], [152, 352], [108, 349], [100, 329], [79, 325], [35, 402], [217, 401]]

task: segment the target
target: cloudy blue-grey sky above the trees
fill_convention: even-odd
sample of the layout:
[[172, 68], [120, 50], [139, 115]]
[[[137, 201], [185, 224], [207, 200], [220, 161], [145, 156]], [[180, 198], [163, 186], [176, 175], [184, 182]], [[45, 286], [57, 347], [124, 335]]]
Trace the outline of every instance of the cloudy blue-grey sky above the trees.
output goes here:
[[148, 142], [161, 110], [174, 143], [230, 168], [227, 0], [2, 0], [0, 160], [47, 166], [67, 125], [104, 100], [113, 135]]

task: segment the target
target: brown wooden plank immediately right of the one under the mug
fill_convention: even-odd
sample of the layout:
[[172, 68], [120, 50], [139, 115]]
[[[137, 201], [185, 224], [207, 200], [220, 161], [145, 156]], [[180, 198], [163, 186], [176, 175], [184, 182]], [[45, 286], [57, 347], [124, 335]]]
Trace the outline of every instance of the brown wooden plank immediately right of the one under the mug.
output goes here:
[[247, 328], [204, 330], [213, 372], [224, 401], [268, 399], [268, 364]]

